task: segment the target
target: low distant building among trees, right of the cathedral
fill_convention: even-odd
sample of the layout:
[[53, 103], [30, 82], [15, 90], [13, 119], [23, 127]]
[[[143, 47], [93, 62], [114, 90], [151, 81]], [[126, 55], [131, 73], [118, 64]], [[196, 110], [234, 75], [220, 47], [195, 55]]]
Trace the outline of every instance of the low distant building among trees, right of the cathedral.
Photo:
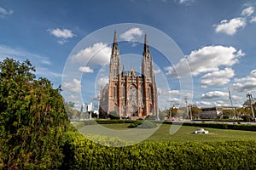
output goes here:
[[201, 119], [223, 118], [223, 111], [232, 111], [235, 107], [231, 106], [214, 106], [201, 108]]

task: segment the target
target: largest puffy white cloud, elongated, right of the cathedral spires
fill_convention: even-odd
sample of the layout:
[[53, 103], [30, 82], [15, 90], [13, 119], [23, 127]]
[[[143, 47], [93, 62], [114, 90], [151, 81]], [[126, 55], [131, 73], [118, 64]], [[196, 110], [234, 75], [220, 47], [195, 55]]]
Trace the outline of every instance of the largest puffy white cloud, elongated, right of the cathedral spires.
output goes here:
[[[243, 55], [241, 50], [236, 50], [233, 47], [207, 46], [192, 51], [186, 59], [181, 59], [177, 65], [167, 67], [166, 71], [167, 75], [172, 77], [177, 77], [176, 71], [179, 73], [179, 77], [190, 74], [197, 76], [204, 72], [219, 71], [219, 66], [235, 65]], [[187, 63], [189, 63], [190, 72], [188, 69], [184, 69], [187, 67]]]

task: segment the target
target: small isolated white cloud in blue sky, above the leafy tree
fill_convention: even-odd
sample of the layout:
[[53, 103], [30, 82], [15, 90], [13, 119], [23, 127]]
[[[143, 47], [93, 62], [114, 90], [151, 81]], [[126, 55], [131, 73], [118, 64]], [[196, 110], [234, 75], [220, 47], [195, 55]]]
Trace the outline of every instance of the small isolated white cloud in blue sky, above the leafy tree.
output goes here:
[[55, 28], [55, 29], [48, 29], [49, 34], [53, 35], [54, 37], [59, 38], [57, 41], [61, 45], [67, 42], [68, 38], [75, 37], [76, 35], [73, 34], [73, 31], [67, 30], [67, 29], [60, 29], [60, 28]]

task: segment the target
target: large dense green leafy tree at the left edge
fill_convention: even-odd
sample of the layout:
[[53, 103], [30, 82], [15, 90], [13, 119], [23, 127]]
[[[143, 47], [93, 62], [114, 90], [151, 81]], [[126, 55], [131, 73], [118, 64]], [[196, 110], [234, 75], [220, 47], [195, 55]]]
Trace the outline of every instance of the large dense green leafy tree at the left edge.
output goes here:
[[68, 119], [61, 88], [32, 73], [29, 60], [0, 62], [0, 168], [56, 168]]

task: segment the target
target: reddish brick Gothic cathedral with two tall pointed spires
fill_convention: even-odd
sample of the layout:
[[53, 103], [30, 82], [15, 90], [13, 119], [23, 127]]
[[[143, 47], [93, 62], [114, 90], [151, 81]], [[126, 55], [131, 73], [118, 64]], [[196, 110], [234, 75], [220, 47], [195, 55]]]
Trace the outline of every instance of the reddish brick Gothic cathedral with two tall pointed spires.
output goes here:
[[141, 75], [122, 68], [119, 46], [114, 31], [109, 65], [109, 83], [102, 88], [99, 112], [107, 116], [111, 111], [121, 117], [157, 116], [158, 94], [154, 77], [154, 64], [148, 48], [147, 35], [144, 39]]

